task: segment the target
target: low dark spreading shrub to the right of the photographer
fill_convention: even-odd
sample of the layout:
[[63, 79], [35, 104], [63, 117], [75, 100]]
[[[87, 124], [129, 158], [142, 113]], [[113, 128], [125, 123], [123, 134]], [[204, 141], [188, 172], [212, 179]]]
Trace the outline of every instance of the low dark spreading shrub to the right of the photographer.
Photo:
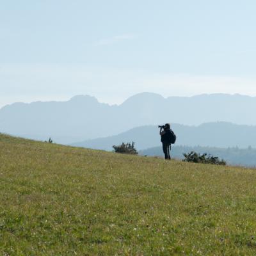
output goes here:
[[188, 154], [184, 153], [183, 156], [185, 157], [183, 159], [183, 161], [185, 162], [226, 165], [226, 162], [223, 159], [220, 160], [217, 156], [207, 156], [206, 153], [201, 155], [194, 151], [191, 151]]

